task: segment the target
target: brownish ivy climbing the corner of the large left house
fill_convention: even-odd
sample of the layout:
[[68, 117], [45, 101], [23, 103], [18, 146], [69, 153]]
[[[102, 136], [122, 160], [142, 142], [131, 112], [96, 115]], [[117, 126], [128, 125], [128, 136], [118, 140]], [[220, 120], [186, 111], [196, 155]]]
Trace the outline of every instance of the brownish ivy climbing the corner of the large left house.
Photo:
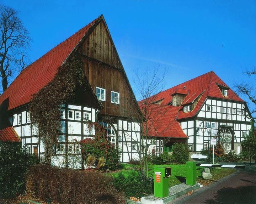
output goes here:
[[44, 163], [50, 164], [60, 130], [59, 105], [75, 100], [76, 87], [86, 84], [82, 61], [71, 55], [54, 79], [43, 87], [29, 105], [32, 123], [44, 144]]

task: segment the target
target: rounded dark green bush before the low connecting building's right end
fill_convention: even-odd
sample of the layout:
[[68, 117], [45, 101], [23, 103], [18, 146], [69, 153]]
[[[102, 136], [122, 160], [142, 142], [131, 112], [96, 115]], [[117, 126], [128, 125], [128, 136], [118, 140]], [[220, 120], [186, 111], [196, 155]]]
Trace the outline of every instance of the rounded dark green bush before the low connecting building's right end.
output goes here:
[[189, 159], [188, 148], [184, 143], [174, 143], [172, 147], [174, 162], [185, 164]]

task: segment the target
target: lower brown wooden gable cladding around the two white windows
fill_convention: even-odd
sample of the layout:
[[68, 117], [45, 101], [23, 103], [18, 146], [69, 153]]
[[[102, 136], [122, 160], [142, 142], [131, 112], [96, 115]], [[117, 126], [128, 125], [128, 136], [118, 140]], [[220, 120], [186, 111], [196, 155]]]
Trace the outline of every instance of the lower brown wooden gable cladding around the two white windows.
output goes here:
[[[96, 86], [106, 90], [106, 100], [101, 101], [103, 115], [114, 117], [138, 118], [137, 102], [129, 89], [122, 70], [83, 57], [84, 71], [92, 89]], [[119, 93], [119, 104], [111, 103], [111, 91]]]

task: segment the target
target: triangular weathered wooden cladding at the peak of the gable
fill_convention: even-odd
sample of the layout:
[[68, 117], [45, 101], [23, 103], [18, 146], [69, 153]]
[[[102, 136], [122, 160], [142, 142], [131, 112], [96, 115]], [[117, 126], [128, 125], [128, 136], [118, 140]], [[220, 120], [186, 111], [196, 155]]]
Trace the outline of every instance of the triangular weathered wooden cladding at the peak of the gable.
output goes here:
[[79, 52], [87, 57], [122, 69], [118, 54], [103, 19], [79, 47]]

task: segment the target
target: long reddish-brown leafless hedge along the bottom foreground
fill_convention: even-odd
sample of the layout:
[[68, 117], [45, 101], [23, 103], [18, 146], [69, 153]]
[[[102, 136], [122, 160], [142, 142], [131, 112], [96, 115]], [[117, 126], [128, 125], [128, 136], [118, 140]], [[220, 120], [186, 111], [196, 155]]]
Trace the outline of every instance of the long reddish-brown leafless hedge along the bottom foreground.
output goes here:
[[32, 198], [62, 204], [125, 204], [126, 198], [112, 185], [112, 177], [93, 171], [52, 168], [38, 164], [26, 174], [26, 192]]

